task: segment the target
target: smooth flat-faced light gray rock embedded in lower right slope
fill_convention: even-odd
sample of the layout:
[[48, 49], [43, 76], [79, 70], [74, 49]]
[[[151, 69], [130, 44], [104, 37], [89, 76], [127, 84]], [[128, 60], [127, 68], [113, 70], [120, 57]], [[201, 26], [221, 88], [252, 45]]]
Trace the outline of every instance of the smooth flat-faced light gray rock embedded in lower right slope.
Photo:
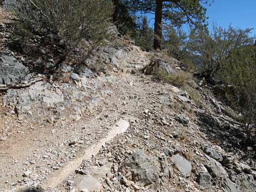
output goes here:
[[175, 154], [175, 156], [173, 156], [171, 160], [183, 176], [190, 175], [192, 170], [192, 165], [190, 162], [188, 162], [187, 159], [180, 156], [179, 154]]

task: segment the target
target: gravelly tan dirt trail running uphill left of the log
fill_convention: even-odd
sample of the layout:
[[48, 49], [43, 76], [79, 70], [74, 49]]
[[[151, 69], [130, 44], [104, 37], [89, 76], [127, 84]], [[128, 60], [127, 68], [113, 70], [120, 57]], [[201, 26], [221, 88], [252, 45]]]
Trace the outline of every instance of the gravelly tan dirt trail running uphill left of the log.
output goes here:
[[[97, 107], [94, 113], [83, 116], [76, 122], [64, 122], [54, 127], [20, 121], [15, 115], [2, 115], [1, 127], [7, 121], [12, 134], [10, 139], [0, 143], [0, 188], [11, 188], [23, 182], [23, 172], [29, 171], [26, 184], [40, 183], [48, 174], [63, 164], [82, 156], [90, 144], [100, 140], [108, 128], [119, 119], [134, 121], [145, 109], [150, 108], [155, 94], [170, 92], [172, 85], [154, 83], [141, 75], [126, 74], [112, 76], [109, 84], [95, 96]], [[153, 94], [154, 92], [154, 94]], [[93, 95], [92, 95], [93, 96]], [[69, 146], [72, 139], [77, 144]]]

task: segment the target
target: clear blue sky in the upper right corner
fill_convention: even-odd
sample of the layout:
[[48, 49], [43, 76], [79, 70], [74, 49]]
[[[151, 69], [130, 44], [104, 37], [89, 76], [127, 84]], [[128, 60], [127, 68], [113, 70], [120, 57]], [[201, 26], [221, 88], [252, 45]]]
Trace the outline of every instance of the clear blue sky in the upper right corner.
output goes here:
[[[207, 7], [207, 15], [210, 30], [212, 22], [222, 27], [256, 28], [256, 0], [215, 0]], [[256, 35], [256, 29], [252, 32]]]

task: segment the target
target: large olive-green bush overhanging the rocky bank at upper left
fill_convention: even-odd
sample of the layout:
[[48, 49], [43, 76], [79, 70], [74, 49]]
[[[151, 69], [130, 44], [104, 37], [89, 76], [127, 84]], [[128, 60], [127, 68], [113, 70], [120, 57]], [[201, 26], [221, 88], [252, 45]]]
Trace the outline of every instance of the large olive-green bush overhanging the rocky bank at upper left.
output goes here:
[[66, 56], [82, 40], [97, 45], [105, 38], [112, 9], [108, 0], [17, 0], [17, 30], [21, 38], [60, 44]]

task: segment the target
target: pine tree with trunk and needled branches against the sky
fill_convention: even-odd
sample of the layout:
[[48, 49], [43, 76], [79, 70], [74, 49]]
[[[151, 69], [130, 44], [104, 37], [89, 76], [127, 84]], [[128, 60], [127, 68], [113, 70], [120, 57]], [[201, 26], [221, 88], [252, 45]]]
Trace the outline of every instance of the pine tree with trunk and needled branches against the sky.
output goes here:
[[125, 0], [134, 12], [140, 11], [145, 14], [155, 15], [154, 24], [154, 48], [161, 49], [163, 21], [179, 27], [182, 24], [192, 24], [197, 27], [205, 27], [206, 8], [203, 4], [213, 1], [206, 0]]

